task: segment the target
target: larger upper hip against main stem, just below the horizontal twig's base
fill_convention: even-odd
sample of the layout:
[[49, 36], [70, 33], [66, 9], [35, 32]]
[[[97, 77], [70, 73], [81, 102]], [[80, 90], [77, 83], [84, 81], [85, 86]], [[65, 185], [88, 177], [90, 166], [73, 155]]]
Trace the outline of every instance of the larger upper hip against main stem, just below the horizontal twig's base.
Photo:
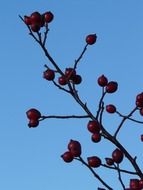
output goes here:
[[101, 129], [101, 125], [97, 120], [96, 121], [89, 121], [87, 124], [87, 129], [91, 133], [96, 133], [96, 132], [99, 133], [100, 129]]

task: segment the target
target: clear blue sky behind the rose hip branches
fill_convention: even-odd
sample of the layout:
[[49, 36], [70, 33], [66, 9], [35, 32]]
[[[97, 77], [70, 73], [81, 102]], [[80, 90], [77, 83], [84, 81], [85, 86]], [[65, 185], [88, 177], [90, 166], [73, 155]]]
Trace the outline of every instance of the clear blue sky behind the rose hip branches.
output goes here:
[[[95, 190], [102, 187], [90, 171], [77, 161], [66, 164], [60, 155], [70, 139], [83, 147], [83, 158], [97, 155], [104, 163], [114, 146], [102, 140], [93, 144], [86, 129], [88, 119], [44, 120], [29, 129], [25, 112], [32, 107], [42, 115], [84, 114], [74, 100], [42, 78], [49, 64], [40, 47], [28, 35], [18, 15], [34, 11], [52, 11], [48, 49], [64, 70], [80, 55], [85, 37], [96, 33], [97, 43], [81, 60], [78, 86], [84, 102], [96, 113], [101, 89], [97, 78], [104, 74], [117, 81], [118, 92], [108, 95], [123, 114], [135, 106], [135, 97], [143, 91], [143, 1], [142, 0], [40, 0], [0, 2], [0, 189], [2, 190]], [[137, 113], [135, 117], [143, 121]], [[105, 113], [104, 125], [114, 132], [121, 118]], [[142, 167], [140, 134], [143, 126], [127, 122], [118, 136], [132, 155], [138, 155]], [[121, 164], [130, 170], [126, 160]], [[104, 168], [98, 173], [113, 189], [120, 190], [116, 172]], [[130, 177], [130, 176], [129, 176]], [[123, 176], [128, 185], [128, 177]]]

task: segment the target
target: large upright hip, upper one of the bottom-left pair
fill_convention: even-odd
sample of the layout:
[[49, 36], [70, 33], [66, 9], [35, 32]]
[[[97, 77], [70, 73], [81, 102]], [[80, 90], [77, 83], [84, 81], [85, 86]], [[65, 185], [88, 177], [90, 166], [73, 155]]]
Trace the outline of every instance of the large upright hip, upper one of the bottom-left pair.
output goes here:
[[70, 140], [68, 149], [74, 157], [79, 157], [81, 155], [81, 144], [78, 141]]

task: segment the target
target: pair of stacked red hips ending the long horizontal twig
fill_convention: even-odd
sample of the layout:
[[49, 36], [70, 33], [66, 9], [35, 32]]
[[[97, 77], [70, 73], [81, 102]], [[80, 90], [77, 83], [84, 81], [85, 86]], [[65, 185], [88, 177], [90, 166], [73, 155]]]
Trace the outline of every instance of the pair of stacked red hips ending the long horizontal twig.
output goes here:
[[27, 118], [29, 119], [28, 126], [31, 127], [37, 127], [39, 125], [39, 119], [41, 118], [41, 113], [35, 109], [31, 108], [26, 112]]

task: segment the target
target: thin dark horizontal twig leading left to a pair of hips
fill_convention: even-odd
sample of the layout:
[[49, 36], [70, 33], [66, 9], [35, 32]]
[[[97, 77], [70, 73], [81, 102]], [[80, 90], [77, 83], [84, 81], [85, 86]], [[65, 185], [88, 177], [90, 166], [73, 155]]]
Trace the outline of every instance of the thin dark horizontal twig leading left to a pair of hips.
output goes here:
[[41, 116], [40, 121], [44, 119], [83, 119], [89, 118], [88, 115], [66, 115], [66, 116], [59, 116], [59, 115], [48, 115], [48, 116]]

